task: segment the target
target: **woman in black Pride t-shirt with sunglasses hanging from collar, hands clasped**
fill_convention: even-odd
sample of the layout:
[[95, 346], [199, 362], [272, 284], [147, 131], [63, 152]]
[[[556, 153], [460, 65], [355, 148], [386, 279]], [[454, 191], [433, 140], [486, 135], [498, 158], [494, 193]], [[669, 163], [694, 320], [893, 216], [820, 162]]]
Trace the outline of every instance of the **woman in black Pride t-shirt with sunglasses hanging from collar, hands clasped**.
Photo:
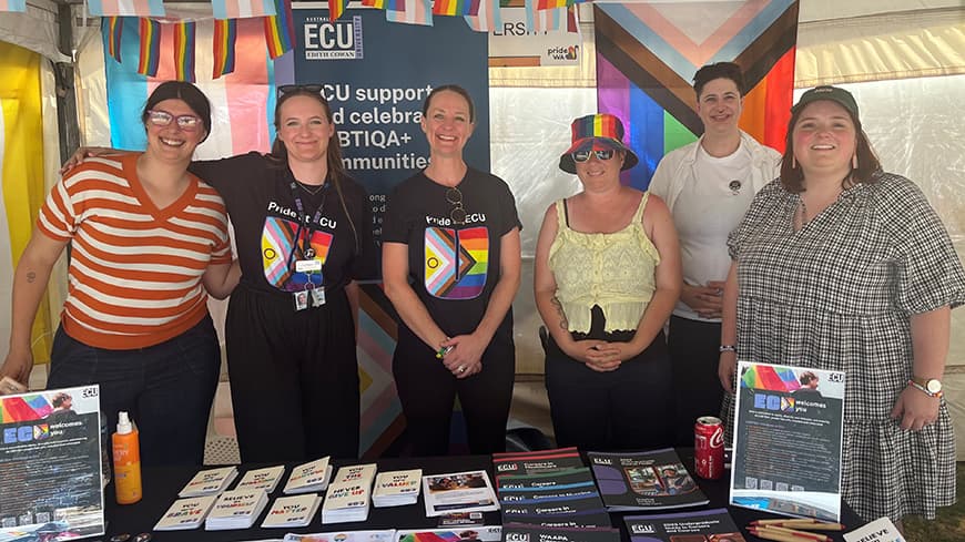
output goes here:
[[402, 319], [393, 375], [416, 456], [448, 452], [457, 395], [470, 452], [506, 448], [521, 225], [506, 183], [463, 160], [474, 123], [463, 88], [429, 94], [429, 166], [393, 191], [383, 223], [385, 293]]

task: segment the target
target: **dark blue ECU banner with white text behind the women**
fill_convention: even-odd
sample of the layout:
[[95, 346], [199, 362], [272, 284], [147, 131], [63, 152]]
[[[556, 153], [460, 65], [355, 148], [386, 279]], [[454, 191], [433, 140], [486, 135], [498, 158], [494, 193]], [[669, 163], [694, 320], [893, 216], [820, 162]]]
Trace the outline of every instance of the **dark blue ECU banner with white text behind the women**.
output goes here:
[[470, 30], [461, 17], [419, 25], [386, 21], [385, 13], [348, 9], [333, 22], [325, 9], [293, 12], [295, 81], [323, 85], [345, 167], [372, 198], [376, 239], [386, 195], [428, 164], [420, 121], [433, 88], [455, 83], [469, 91], [476, 129], [464, 156], [473, 167], [489, 170], [487, 34]]

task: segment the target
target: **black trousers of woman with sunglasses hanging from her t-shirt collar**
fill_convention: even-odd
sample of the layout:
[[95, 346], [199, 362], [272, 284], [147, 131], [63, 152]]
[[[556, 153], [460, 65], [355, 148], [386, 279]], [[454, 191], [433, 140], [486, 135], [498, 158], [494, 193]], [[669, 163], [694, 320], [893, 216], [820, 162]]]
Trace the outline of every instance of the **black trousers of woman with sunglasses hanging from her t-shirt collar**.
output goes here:
[[499, 326], [482, 352], [482, 371], [464, 379], [454, 377], [436, 352], [400, 324], [392, 371], [414, 456], [449, 453], [456, 396], [466, 418], [469, 452], [506, 451], [506, 422], [516, 378], [511, 318]]

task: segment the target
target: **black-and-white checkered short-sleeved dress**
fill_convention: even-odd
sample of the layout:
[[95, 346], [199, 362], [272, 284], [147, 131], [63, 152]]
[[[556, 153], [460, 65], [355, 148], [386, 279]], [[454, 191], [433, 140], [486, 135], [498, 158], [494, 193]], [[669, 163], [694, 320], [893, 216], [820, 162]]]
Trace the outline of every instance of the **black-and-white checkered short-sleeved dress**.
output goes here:
[[846, 190], [794, 232], [799, 204], [772, 182], [728, 241], [738, 359], [846, 371], [845, 502], [866, 520], [934, 518], [955, 500], [946, 405], [922, 431], [902, 430], [891, 411], [912, 374], [910, 316], [965, 303], [958, 256], [925, 196], [898, 175]]

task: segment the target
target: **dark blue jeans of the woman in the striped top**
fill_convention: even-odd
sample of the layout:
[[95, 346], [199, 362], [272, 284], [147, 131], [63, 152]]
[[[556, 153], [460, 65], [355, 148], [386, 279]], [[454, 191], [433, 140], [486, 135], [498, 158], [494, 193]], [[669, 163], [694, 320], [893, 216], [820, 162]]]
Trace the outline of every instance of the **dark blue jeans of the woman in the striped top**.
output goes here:
[[106, 350], [57, 330], [48, 389], [100, 385], [101, 411], [114, 432], [118, 412], [138, 425], [141, 463], [201, 464], [221, 349], [210, 316], [173, 339]]

